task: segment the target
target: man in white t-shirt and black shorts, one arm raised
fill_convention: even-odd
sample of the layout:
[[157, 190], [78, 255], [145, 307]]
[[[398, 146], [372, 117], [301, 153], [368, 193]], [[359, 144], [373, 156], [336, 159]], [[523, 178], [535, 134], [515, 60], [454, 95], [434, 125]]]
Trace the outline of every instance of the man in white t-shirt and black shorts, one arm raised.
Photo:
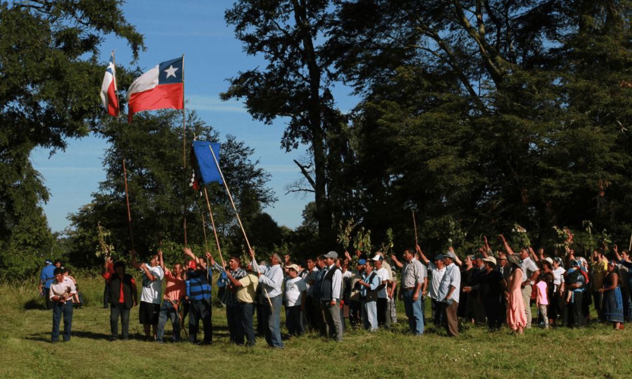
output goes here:
[[162, 279], [164, 271], [160, 267], [160, 260], [157, 255], [152, 255], [149, 263], [138, 263], [136, 251], [131, 251], [131, 265], [143, 272], [143, 289], [140, 292], [140, 308], [138, 310], [138, 320], [143, 324], [145, 339], [150, 339], [150, 327], [154, 340], [158, 331], [158, 316], [160, 314], [160, 303], [162, 300]]

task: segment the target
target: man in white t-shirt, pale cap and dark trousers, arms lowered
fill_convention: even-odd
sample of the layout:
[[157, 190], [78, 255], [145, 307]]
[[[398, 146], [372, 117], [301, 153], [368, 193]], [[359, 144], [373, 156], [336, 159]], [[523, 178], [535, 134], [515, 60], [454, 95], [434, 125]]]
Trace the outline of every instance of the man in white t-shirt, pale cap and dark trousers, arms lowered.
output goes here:
[[303, 315], [307, 303], [307, 283], [298, 276], [298, 265], [287, 265], [288, 278], [285, 281], [285, 326], [288, 333], [297, 337], [303, 334]]

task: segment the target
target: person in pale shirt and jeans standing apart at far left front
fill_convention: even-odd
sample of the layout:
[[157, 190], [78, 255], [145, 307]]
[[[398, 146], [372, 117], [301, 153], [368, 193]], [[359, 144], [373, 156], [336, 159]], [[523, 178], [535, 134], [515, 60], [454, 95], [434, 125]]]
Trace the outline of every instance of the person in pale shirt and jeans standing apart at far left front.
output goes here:
[[59, 340], [59, 323], [63, 316], [63, 341], [68, 342], [70, 341], [73, 323], [73, 296], [76, 295], [77, 291], [73, 280], [69, 277], [65, 277], [61, 268], [55, 268], [53, 274], [55, 280], [52, 282], [49, 291], [49, 299], [52, 301], [51, 341], [58, 342]]

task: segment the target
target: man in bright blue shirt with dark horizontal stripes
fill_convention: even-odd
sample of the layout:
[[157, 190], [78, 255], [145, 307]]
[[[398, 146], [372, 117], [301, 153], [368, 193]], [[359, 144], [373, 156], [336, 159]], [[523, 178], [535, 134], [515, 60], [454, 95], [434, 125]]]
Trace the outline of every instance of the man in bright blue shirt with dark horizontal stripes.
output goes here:
[[186, 296], [191, 303], [189, 308], [189, 342], [197, 343], [197, 332], [200, 320], [204, 328], [204, 344], [213, 342], [213, 324], [210, 306], [210, 272], [202, 258], [193, 254], [191, 249], [183, 250], [191, 257], [186, 273]]

